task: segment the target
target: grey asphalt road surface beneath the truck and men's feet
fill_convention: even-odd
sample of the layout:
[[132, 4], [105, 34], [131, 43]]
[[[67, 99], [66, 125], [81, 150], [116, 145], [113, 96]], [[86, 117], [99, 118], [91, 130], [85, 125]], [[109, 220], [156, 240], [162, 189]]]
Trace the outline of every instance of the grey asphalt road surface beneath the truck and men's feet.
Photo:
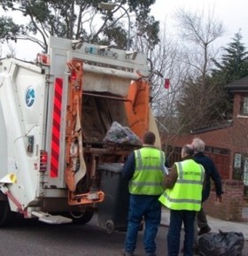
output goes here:
[[[183, 234], [183, 233], [182, 233]], [[157, 237], [158, 256], [167, 255], [167, 227], [160, 227]], [[0, 229], [2, 256], [118, 256], [125, 232], [107, 234], [97, 226], [97, 217], [86, 225], [50, 225], [40, 221], [15, 221]], [[144, 256], [143, 231], [139, 233], [136, 256]], [[243, 255], [248, 255], [245, 243]]]

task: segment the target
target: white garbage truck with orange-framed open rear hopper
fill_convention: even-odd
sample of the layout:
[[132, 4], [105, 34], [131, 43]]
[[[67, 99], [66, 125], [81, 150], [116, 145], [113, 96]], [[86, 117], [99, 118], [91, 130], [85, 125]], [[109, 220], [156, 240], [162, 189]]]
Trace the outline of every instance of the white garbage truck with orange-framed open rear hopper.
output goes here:
[[1, 59], [0, 226], [17, 214], [60, 224], [94, 213], [110, 232], [125, 226], [121, 167], [141, 144], [120, 133], [151, 130], [160, 147], [150, 72], [145, 54], [55, 36], [34, 61]]

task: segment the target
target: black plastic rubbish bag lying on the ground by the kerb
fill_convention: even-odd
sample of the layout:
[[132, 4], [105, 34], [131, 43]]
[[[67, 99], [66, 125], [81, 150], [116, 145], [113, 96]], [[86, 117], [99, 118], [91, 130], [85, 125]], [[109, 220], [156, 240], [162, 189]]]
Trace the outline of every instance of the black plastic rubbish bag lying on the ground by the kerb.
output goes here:
[[198, 239], [198, 251], [202, 256], [241, 256], [244, 235], [241, 232], [207, 233]]

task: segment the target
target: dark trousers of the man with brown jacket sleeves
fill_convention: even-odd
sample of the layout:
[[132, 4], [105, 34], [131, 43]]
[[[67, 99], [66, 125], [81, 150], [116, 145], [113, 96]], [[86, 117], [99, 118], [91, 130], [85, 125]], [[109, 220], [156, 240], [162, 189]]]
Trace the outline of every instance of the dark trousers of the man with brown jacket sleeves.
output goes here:
[[177, 256], [180, 248], [182, 223], [184, 225], [183, 255], [193, 256], [195, 211], [171, 210], [167, 235], [168, 256]]

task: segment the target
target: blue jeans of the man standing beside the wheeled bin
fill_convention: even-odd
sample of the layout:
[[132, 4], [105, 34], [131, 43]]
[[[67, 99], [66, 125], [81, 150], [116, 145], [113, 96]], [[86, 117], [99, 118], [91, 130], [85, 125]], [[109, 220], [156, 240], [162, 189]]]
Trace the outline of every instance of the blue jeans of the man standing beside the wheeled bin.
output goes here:
[[128, 212], [128, 231], [124, 243], [126, 252], [134, 252], [141, 222], [144, 220], [143, 245], [146, 255], [155, 255], [159, 224], [161, 221], [161, 204], [157, 196], [130, 195]]

